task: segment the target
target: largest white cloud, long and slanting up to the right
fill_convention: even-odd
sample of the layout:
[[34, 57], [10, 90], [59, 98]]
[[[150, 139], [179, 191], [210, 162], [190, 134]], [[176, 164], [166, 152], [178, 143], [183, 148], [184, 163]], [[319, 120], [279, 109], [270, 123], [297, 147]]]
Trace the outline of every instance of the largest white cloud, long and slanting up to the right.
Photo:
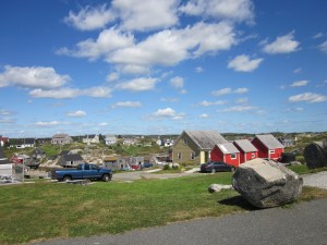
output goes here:
[[228, 50], [234, 44], [235, 33], [231, 25], [197, 23], [183, 29], [158, 32], [137, 45], [117, 49], [107, 56], [106, 61], [144, 69], [154, 65], [169, 66], [207, 52]]

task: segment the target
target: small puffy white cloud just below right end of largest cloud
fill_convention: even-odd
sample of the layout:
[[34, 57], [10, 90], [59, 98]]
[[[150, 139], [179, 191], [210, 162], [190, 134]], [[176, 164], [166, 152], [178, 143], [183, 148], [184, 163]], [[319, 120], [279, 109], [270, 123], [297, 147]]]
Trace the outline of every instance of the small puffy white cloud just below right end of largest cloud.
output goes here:
[[228, 63], [229, 69], [233, 69], [237, 72], [252, 72], [258, 68], [264, 59], [251, 60], [249, 56], [242, 54], [232, 59]]

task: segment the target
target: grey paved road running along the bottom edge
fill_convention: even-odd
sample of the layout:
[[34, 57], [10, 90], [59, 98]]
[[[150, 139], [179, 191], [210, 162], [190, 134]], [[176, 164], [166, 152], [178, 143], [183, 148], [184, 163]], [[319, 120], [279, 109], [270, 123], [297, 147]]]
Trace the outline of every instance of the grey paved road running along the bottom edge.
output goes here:
[[327, 199], [197, 219], [119, 235], [55, 240], [34, 245], [326, 245]]

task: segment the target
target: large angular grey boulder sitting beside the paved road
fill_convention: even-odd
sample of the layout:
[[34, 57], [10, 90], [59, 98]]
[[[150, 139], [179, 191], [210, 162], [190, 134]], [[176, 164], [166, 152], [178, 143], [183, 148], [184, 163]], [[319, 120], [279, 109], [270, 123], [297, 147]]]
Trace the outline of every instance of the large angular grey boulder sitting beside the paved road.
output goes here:
[[289, 204], [302, 192], [303, 179], [281, 163], [261, 158], [241, 164], [232, 186], [257, 208]]

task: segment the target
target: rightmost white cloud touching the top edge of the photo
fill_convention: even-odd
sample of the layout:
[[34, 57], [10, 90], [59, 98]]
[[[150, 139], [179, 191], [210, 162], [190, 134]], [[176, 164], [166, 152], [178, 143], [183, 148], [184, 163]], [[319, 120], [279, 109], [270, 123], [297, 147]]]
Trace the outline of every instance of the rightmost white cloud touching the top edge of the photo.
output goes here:
[[218, 20], [253, 23], [254, 5], [251, 0], [191, 0], [180, 8], [189, 15], [208, 16]]

